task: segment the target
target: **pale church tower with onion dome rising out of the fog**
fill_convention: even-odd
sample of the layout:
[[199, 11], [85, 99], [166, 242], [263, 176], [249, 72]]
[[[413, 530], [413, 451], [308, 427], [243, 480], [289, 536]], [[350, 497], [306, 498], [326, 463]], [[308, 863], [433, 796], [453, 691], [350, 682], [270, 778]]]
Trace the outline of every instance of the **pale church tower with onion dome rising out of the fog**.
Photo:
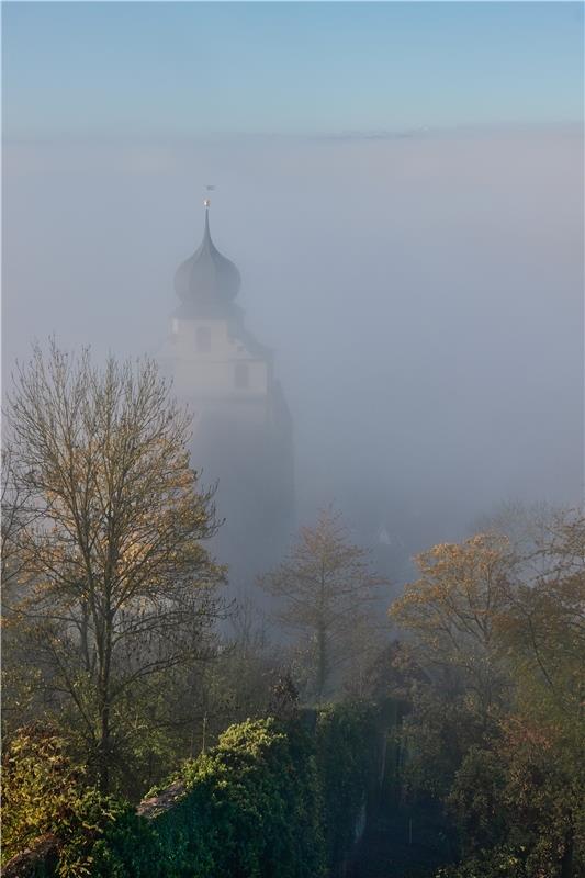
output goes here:
[[278, 561], [293, 516], [292, 420], [272, 351], [257, 341], [235, 303], [240, 275], [215, 247], [210, 201], [203, 240], [175, 275], [181, 304], [161, 356], [175, 395], [193, 413], [191, 463], [218, 483], [214, 547], [244, 585]]

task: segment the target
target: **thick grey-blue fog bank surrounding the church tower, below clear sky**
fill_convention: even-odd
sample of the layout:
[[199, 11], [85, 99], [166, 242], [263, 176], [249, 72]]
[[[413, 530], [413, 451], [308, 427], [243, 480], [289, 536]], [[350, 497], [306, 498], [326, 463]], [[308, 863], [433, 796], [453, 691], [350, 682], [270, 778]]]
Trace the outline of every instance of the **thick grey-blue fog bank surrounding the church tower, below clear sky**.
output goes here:
[[580, 500], [578, 126], [7, 143], [7, 376], [53, 330], [156, 356], [206, 182], [293, 414], [299, 525], [384, 522], [403, 583], [503, 500]]

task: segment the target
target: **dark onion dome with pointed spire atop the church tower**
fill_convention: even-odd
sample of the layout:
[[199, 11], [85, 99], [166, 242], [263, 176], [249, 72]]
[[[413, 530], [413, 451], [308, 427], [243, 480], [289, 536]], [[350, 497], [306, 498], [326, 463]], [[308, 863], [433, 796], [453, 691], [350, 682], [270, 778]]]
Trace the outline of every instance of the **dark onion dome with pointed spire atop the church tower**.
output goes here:
[[240, 284], [239, 271], [222, 256], [210, 234], [210, 201], [205, 199], [203, 240], [193, 256], [185, 259], [175, 274], [175, 289], [191, 308], [217, 308], [230, 305]]

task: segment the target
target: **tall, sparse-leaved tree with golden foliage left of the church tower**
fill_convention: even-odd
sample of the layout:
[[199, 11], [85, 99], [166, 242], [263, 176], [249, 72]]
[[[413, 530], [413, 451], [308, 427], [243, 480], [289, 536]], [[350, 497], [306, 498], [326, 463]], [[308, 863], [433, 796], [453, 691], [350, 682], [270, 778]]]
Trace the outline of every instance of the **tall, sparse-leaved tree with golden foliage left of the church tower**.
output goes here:
[[217, 527], [213, 491], [153, 361], [100, 370], [87, 350], [36, 346], [8, 421], [15, 488], [35, 510], [14, 536], [33, 584], [12, 624], [75, 709], [108, 790], [125, 699], [206, 652], [224, 576], [201, 544]]

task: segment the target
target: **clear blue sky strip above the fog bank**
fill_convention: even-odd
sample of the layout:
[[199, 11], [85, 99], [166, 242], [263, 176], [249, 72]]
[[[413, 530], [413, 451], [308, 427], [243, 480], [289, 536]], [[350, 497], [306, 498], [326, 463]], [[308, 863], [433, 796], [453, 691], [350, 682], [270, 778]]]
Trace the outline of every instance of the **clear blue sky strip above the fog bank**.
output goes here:
[[583, 114], [580, 3], [3, 3], [4, 137]]

